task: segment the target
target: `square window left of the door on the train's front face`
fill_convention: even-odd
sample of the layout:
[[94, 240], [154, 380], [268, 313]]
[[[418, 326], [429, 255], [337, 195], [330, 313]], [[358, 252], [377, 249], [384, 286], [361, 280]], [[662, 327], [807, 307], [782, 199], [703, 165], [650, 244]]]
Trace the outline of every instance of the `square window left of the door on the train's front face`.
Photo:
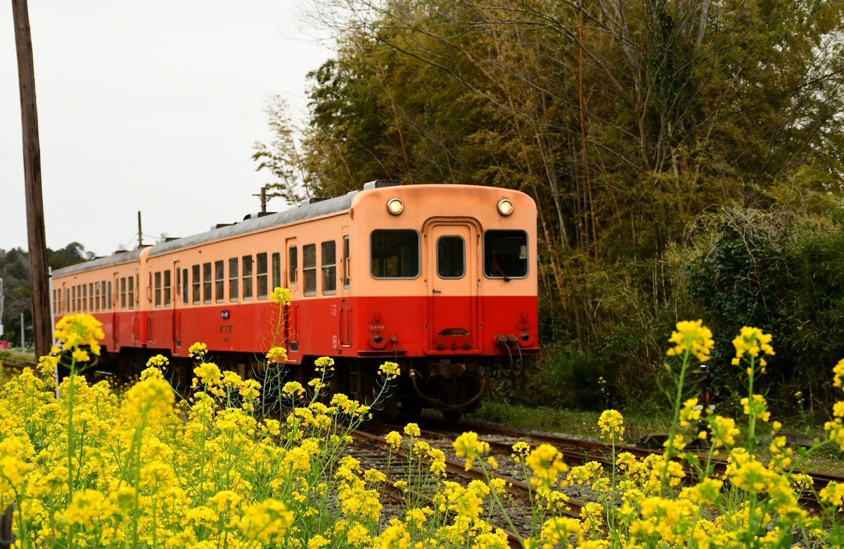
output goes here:
[[376, 229], [370, 236], [371, 273], [376, 279], [419, 276], [419, 233]]

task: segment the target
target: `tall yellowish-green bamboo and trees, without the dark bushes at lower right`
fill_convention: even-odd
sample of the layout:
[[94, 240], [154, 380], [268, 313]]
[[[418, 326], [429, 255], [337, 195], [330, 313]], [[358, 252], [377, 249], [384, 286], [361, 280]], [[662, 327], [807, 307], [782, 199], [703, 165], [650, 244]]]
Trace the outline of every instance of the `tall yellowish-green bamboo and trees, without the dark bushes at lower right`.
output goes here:
[[654, 360], [649, 330], [679, 314], [666, 258], [706, 212], [844, 193], [844, 3], [330, 7], [339, 46], [313, 75], [302, 150], [314, 188], [530, 193], [542, 291], [583, 352], [625, 341], [632, 367]]

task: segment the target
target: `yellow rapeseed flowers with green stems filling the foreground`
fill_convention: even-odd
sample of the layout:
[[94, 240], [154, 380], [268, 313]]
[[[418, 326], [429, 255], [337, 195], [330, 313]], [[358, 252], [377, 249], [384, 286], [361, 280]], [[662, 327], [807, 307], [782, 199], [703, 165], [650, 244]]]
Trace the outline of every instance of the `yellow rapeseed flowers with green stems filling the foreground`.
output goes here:
[[[289, 300], [279, 292], [282, 298]], [[400, 375], [396, 363], [381, 366], [380, 393], [364, 405], [326, 394], [333, 361], [323, 357], [308, 387], [279, 387], [284, 409], [268, 418], [257, 412], [257, 382], [221, 372], [206, 361], [204, 345], [192, 346], [193, 392], [181, 400], [162, 373], [164, 356], [150, 357], [138, 382], [119, 396], [108, 382], [89, 385], [78, 375], [89, 355], [100, 352], [94, 318], [65, 318], [57, 336], [60, 344], [41, 359], [39, 372], [24, 370], [0, 390], [0, 504], [14, 507], [14, 547], [508, 546], [504, 532], [488, 522], [506, 497], [502, 481], [446, 481], [444, 454], [419, 440], [414, 424], [387, 436], [390, 459], [398, 459], [402, 443], [412, 451], [403, 462], [406, 479], [394, 482], [406, 495], [403, 517], [382, 520], [387, 476], [362, 470], [343, 450], [349, 432]], [[701, 414], [695, 399], [682, 398], [690, 367], [708, 360], [713, 345], [701, 321], [678, 323], [668, 341], [678, 390], [663, 455], [640, 460], [617, 453], [625, 427], [615, 410], [599, 421], [613, 465], [569, 468], [547, 444], [513, 447], [533, 486], [532, 506], [523, 509], [531, 525], [523, 546], [841, 546], [844, 486], [830, 484], [818, 494], [823, 514], [799, 506], [810, 487], [793, 470], [804, 456], [786, 447], [764, 396], [753, 393], [765, 356], [774, 352], [770, 335], [743, 329], [734, 340], [734, 363], [749, 388], [742, 421]], [[60, 357], [73, 375], [56, 388]], [[283, 367], [284, 359], [273, 348], [267, 367]], [[834, 376], [841, 387], [844, 361]], [[817, 446], [844, 449], [842, 416], [844, 402]], [[735, 446], [739, 425], [748, 441], [742, 447]], [[766, 462], [755, 457], [763, 434], [773, 435]], [[690, 437], [706, 439], [708, 454], [688, 454]], [[475, 433], [457, 438], [454, 449], [467, 467], [495, 467], [489, 445]], [[712, 475], [716, 456], [729, 462], [722, 477]], [[696, 477], [684, 483], [689, 470]], [[563, 488], [572, 487], [597, 496], [579, 519], [563, 514], [569, 497]]]

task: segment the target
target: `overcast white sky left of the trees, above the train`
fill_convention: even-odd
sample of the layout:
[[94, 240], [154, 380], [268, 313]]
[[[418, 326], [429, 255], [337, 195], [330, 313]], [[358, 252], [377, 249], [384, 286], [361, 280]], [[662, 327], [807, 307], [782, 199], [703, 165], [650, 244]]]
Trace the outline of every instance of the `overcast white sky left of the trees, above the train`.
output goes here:
[[[331, 56], [300, 0], [31, 0], [46, 243], [107, 255], [257, 212], [273, 95]], [[0, 248], [27, 249], [11, 3], [0, 9]], [[276, 204], [278, 202], [278, 204]], [[273, 198], [269, 209], [284, 209]]]

